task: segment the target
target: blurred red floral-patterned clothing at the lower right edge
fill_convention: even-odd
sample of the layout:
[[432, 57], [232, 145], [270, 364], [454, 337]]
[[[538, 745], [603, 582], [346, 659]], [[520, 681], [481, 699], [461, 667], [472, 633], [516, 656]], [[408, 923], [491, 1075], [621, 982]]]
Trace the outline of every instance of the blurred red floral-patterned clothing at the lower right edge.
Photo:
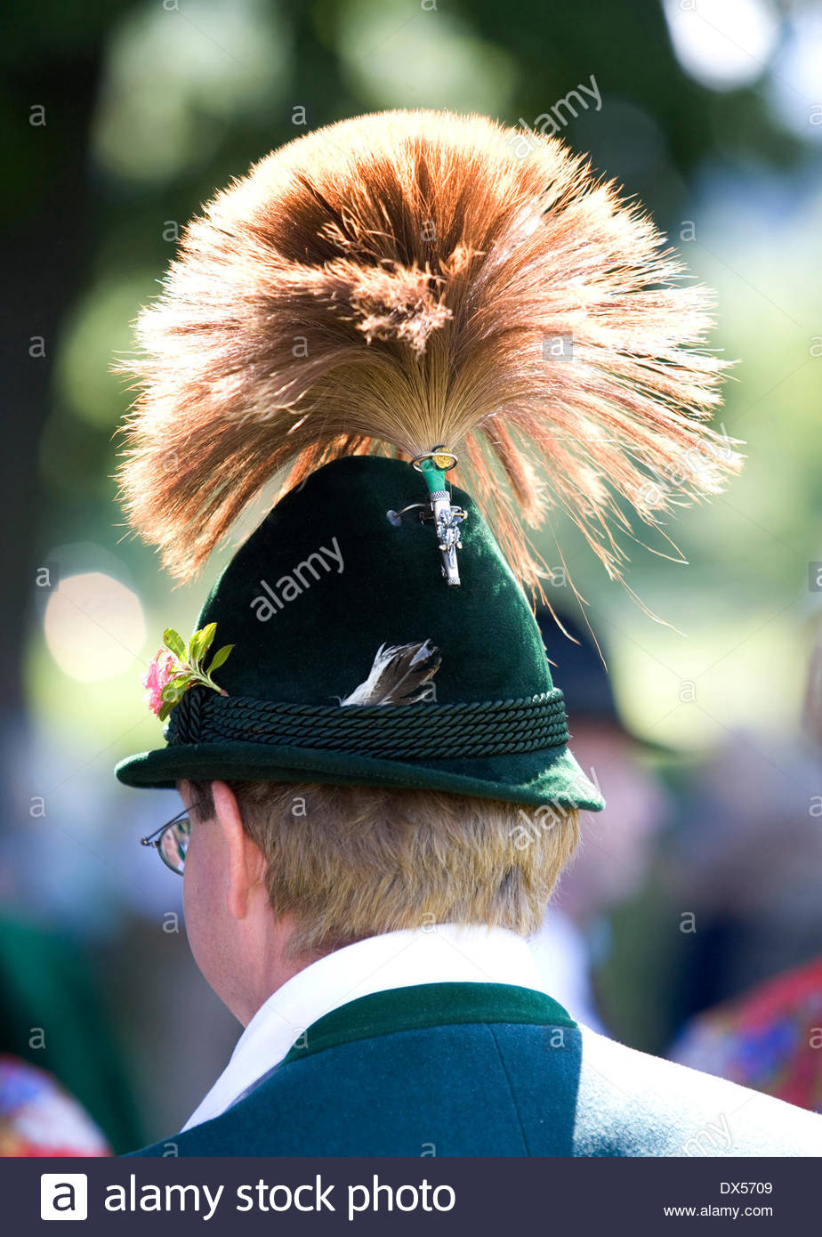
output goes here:
[[822, 957], [700, 1014], [671, 1056], [822, 1112]]

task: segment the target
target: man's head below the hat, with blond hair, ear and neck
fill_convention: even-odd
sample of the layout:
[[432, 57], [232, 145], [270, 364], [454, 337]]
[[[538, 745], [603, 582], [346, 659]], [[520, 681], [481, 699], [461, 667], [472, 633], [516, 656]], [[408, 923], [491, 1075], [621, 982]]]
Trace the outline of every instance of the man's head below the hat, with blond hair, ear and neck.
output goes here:
[[203, 975], [247, 1023], [316, 957], [441, 923], [535, 931], [578, 814], [430, 790], [183, 782], [185, 924]]

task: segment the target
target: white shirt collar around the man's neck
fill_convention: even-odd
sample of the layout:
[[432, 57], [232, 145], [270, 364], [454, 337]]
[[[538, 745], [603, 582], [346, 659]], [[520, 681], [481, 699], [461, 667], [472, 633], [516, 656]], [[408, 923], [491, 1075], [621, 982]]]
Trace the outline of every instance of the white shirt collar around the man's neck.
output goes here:
[[231, 1060], [183, 1129], [225, 1112], [292, 1044], [349, 1001], [414, 983], [514, 983], [541, 990], [525, 940], [507, 928], [433, 924], [370, 936], [298, 971], [257, 1009]]

